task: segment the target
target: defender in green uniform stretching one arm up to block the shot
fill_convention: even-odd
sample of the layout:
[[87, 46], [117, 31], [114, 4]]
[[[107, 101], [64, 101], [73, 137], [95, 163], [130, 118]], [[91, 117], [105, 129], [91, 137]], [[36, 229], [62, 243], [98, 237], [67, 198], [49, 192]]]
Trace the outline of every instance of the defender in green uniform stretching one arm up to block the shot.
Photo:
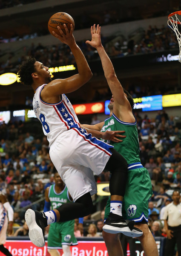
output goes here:
[[[95, 25], [91, 27], [91, 35], [92, 40], [86, 41], [86, 43], [95, 47], [98, 51], [104, 75], [112, 92], [112, 99], [109, 103], [110, 117], [105, 122], [96, 125], [83, 125], [83, 127], [97, 131], [125, 131], [126, 138], [123, 142], [117, 143], [117, 136], [113, 138], [113, 141], [107, 141], [107, 143], [114, 145], [115, 149], [125, 157], [128, 163], [123, 212], [126, 219], [134, 220], [135, 227], [143, 231], [143, 235], [139, 237], [139, 240], [145, 256], [158, 256], [155, 239], [147, 224], [148, 199], [152, 195], [152, 185], [147, 169], [140, 163], [138, 131], [135, 116], [132, 113], [134, 102], [131, 95], [123, 89], [117, 79], [112, 62], [101, 44], [101, 27], [99, 25], [97, 25], [97, 28]], [[109, 202], [106, 207], [105, 218], [109, 215], [108, 209], [110, 209]], [[114, 209], [111, 209], [111, 212], [114, 213]], [[118, 234], [110, 234], [103, 231], [103, 239], [109, 256], [123, 256]]]

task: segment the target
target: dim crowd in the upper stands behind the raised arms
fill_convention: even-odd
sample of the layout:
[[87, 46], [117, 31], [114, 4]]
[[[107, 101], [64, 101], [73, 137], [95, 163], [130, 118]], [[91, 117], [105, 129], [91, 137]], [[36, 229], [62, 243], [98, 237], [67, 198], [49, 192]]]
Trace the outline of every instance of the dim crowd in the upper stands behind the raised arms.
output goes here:
[[[92, 61], [95, 59], [99, 59], [98, 53], [95, 51], [95, 49], [93, 49], [89, 44], [85, 44], [85, 41], [78, 42], [78, 45], [82, 49], [87, 60]], [[113, 38], [102, 37], [102, 42], [106, 48], [108, 55], [111, 58], [126, 58], [126, 56], [129, 55], [148, 54], [150, 52], [178, 48], [178, 42], [174, 35], [174, 32], [172, 31], [172, 29], [165, 26], [162, 26], [161, 28], [157, 28], [156, 26], [149, 26], [149, 28], [144, 32], [144, 35], [141, 36], [139, 42], [132, 39], [125, 39], [124, 41], [121, 41], [120, 37], [118, 37], [116, 40]], [[29, 58], [29, 56], [34, 56], [37, 60], [41, 61], [47, 67], [59, 67], [75, 64], [75, 58], [71, 54], [69, 47], [67, 47], [65, 44], [57, 44], [45, 47], [41, 43], [39, 43], [38, 45], [34, 45], [34, 43], [32, 43], [30, 47], [24, 47], [24, 55], [19, 56], [18, 61], [12, 61], [12, 59], [14, 59], [14, 53], [11, 52], [6, 62], [0, 62], [0, 73], [17, 73], [19, 64]], [[144, 87], [144, 89], [139, 86], [133, 85], [128, 90], [131, 93], [132, 97], [135, 98], [146, 95], [163, 95], [165, 93], [168, 93], [169, 91], [172, 91], [173, 88], [169, 87], [168, 84], [162, 88], [157, 87], [153, 84], [152, 87]], [[98, 101], [105, 98], [105, 95], [100, 95], [100, 93], [98, 92], [96, 93], [97, 94], [95, 94], [92, 101]]]

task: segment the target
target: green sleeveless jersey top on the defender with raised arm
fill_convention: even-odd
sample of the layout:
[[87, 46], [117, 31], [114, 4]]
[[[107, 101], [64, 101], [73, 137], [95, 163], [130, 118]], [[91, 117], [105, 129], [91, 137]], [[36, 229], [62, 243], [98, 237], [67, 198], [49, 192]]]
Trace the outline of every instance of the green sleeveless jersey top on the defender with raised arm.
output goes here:
[[124, 156], [128, 164], [140, 162], [139, 142], [136, 122], [128, 123], [119, 120], [114, 114], [104, 121], [101, 131], [125, 131], [126, 138], [121, 143], [110, 140], [104, 142], [114, 146], [115, 150]]

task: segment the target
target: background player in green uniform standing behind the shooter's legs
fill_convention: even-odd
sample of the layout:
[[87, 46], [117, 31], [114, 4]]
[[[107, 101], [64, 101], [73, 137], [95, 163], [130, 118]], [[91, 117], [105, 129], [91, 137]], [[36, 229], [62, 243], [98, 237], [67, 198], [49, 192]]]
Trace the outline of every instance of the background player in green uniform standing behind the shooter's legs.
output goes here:
[[[67, 187], [59, 174], [55, 173], [54, 178], [55, 184], [45, 190], [44, 211], [49, 211], [50, 206], [55, 209], [62, 204], [72, 202]], [[60, 256], [57, 249], [63, 249], [64, 256], [71, 256], [70, 245], [78, 244], [74, 236], [74, 223], [75, 220], [50, 224], [47, 248], [51, 256]]]

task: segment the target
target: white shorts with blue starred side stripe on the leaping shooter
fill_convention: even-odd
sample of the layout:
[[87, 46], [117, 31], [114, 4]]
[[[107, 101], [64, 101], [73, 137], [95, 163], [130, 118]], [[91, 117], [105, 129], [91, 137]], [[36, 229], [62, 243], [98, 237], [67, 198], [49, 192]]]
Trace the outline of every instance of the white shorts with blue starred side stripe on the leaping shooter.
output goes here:
[[49, 154], [73, 201], [76, 201], [87, 192], [91, 195], [97, 193], [93, 172], [101, 174], [113, 146], [92, 137], [81, 128], [72, 128], [65, 134], [57, 137]]

